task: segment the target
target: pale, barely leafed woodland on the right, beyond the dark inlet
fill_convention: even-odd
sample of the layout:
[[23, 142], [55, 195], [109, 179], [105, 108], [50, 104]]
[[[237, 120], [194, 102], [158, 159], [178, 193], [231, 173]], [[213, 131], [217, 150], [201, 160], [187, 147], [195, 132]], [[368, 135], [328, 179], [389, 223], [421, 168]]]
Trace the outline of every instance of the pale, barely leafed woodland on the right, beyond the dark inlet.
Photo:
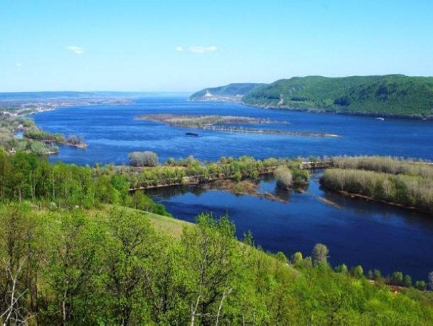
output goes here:
[[321, 184], [433, 213], [433, 165], [390, 157], [333, 158]]

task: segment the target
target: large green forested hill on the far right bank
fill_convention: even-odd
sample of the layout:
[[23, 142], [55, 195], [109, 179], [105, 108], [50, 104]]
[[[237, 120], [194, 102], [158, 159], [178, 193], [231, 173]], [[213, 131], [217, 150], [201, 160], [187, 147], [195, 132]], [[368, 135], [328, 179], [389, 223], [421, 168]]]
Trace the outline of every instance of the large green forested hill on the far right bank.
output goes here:
[[254, 88], [242, 102], [281, 109], [426, 118], [433, 115], [433, 77], [293, 77]]

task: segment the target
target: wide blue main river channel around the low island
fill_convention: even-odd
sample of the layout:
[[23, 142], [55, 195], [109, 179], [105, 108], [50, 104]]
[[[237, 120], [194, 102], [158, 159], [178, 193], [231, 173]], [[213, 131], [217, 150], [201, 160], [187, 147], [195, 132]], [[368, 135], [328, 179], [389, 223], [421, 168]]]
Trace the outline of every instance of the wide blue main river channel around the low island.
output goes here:
[[[199, 137], [185, 136], [192, 129], [137, 121], [146, 113], [224, 114], [270, 118], [281, 124], [246, 126], [277, 130], [326, 132], [343, 138], [239, 134], [199, 130]], [[83, 136], [89, 147], [63, 147], [52, 161], [76, 164], [127, 163], [132, 151], [154, 151], [160, 160], [194, 155], [200, 160], [221, 156], [252, 155], [293, 157], [309, 155], [380, 154], [433, 159], [433, 123], [265, 110], [232, 103], [194, 103], [182, 97], [144, 98], [128, 106], [62, 108], [33, 115], [44, 130]], [[288, 122], [288, 124], [285, 124]]]

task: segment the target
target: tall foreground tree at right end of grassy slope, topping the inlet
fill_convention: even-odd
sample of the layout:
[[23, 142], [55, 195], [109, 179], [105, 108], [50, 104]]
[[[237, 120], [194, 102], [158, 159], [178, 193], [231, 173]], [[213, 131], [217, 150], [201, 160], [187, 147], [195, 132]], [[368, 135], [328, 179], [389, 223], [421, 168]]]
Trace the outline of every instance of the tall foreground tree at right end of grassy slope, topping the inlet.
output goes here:
[[211, 214], [200, 215], [197, 224], [185, 229], [181, 239], [191, 278], [190, 324], [226, 323], [222, 311], [234, 290], [239, 255], [234, 224], [227, 216], [217, 220]]

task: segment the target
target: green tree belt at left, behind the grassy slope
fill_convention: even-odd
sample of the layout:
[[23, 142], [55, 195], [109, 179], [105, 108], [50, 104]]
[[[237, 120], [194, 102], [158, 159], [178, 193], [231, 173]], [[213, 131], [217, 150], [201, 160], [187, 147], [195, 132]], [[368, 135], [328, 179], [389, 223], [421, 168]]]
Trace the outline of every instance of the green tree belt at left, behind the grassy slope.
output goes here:
[[143, 192], [129, 193], [127, 175], [103, 169], [55, 163], [36, 155], [0, 148], [0, 200], [31, 201], [53, 208], [97, 208], [102, 204], [121, 204], [170, 215]]

